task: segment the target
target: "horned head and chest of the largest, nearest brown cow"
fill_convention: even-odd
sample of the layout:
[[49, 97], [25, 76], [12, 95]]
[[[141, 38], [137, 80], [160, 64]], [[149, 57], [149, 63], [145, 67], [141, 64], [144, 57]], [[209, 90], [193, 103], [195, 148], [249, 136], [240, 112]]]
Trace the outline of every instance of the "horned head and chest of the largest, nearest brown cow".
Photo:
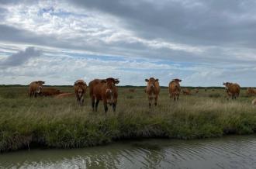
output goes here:
[[117, 78], [106, 78], [101, 81], [102, 83], [106, 83], [106, 96], [107, 102], [112, 105], [114, 103], [114, 88], [119, 84], [119, 80]]

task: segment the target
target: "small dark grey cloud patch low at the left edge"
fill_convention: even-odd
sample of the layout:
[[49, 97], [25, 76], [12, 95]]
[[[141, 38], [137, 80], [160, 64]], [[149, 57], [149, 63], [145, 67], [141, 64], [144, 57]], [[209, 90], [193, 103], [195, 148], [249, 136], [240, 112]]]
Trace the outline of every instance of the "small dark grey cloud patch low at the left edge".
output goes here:
[[14, 53], [5, 60], [2, 60], [0, 65], [3, 67], [20, 66], [26, 63], [30, 58], [40, 57], [41, 54], [40, 50], [36, 50], [34, 47], [27, 47], [26, 50]]

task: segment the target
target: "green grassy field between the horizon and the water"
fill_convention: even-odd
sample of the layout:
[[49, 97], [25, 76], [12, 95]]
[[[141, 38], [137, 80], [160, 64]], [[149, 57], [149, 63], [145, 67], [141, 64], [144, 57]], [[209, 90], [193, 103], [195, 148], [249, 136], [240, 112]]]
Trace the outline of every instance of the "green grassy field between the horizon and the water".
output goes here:
[[[71, 87], [55, 87], [73, 92]], [[254, 97], [241, 91], [237, 100], [227, 101], [224, 89], [200, 89], [181, 95], [180, 102], [168, 98], [161, 88], [157, 107], [148, 108], [143, 88], [119, 88], [116, 112], [107, 116], [102, 102], [92, 112], [71, 98], [29, 99], [27, 87], [0, 87], [0, 151], [33, 147], [89, 147], [116, 140], [142, 137], [194, 139], [225, 134], [256, 132]]]

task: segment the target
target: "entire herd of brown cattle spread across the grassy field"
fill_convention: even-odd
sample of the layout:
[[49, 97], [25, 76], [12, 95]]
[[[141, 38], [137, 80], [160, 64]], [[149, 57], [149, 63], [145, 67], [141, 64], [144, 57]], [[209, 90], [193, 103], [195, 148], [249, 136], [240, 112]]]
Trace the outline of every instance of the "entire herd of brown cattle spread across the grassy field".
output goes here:
[[[149, 78], [145, 79], [147, 82], [147, 87], [144, 88], [145, 93], [147, 93], [149, 107], [152, 105], [154, 101], [154, 105], [157, 105], [157, 98], [160, 92], [160, 85], [157, 78]], [[182, 80], [176, 78], [170, 81], [168, 85], [168, 91], [170, 98], [173, 98], [175, 102], [178, 102], [178, 98], [180, 93], [182, 92], [184, 95], [191, 95], [191, 90], [189, 88], [182, 89], [180, 86], [180, 82]], [[117, 104], [117, 87], [119, 84], [119, 80], [116, 78], [106, 78], [106, 79], [94, 79], [90, 81], [88, 86], [85, 81], [78, 80], [74, 82], [74, 93], [64, 93], [55, 88], [43, 88], [44, 81], [33, 81], [29, 85], [29, 97], [35, 97], [37, 95], [57, 95], [57, 98], [64, 98], [71, 95], [74, 95], [77, 99], [79, 105], [84, 104], [84, 95], [89, 87], [89, 95], [92, 100], [92, 109], [93, 111], [97, 111], [99, 101], [102, 100], [105, 112], [108, 111], [108, 105], [112, 106], [112, 110], [116, 111]], [[225, 91], [227, 93], [228, 98], [237, 98], [240, 94], [240, 85], [236, 83], [226, 82], [223, 83], [225, 86]], [[206, 89], [205, 89], [206, 90]], [[134, 89], [130, 89], [130, 92], [134, 92]], [[195, 93], [199, 92], [199, 88], [195, 88]], [[256, 95], [256, 90], [254, 88], [247, 88], [248, 95]]]

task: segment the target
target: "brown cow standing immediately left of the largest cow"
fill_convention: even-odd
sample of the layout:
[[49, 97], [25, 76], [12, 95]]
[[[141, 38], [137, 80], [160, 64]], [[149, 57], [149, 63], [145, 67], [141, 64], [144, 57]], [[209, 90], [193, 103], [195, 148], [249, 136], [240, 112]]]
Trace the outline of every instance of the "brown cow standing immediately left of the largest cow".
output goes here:
[[79, 105], [84, 105], [84, 95], [87, 89], [87, 85], [85, 81], [78, 80], [74, 82], [74, 94], [77, 98], [77, 102]]

